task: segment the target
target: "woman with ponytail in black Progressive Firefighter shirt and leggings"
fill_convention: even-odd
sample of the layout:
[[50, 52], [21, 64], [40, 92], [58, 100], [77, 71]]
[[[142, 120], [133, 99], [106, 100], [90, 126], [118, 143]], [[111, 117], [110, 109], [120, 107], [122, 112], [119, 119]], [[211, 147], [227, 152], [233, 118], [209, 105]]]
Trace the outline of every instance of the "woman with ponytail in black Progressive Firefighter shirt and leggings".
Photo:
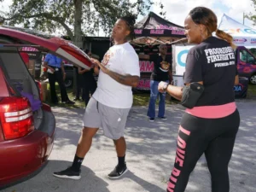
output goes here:
[[[202, 154], [211, 174], [212, 192], [230, 191], [228, 167], [240, 125], [234, 94], [238, 79], [233, 49], [236, 46], [229, 34], [217, 28], [217, 23], [211, 9], [196, 7], [189, 12], [184, 21], [185, 35], [189, 44], [196, 45], [187, 56], [186, 87], [159, 84], [160, 92], [167, 91], [189, 104], [179, 126], [168, 192], [185, 191]], [[212, 37], [212, 32], [217, 37]], [[201, 94], [198, 90], [202, 90]], [[183, 96], [183, 91], [189, 95]]]

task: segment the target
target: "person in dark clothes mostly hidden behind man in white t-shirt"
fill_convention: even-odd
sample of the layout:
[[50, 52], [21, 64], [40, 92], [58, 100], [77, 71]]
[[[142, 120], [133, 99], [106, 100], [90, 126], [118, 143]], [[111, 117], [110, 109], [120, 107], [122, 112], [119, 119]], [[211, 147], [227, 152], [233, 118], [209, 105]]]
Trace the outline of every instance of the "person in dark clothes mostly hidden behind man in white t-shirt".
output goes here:
[[[90, 50], [88, 49], [85, 49], [84, 53], [91, 56]], [[90, 96], [93, 95], [97, 87], [96, 79], [94, 78], [93, 73], [99, 73], [99, 68], [97, 66], [92, 67], [90, 70], [79, 67], [79, 75], [81, 75], [79, 84], [83, 88], [85, 106], [87, 106]]]

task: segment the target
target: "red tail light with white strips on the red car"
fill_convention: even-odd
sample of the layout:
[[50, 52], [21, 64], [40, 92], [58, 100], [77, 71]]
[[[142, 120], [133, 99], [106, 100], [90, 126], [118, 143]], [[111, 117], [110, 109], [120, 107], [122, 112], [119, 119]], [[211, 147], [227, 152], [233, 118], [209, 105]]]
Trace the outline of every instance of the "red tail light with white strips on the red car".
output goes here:
[[6, 140], [24, 137], [34, 130], [30, 102], [24, 97], [5, 97], [0, 102], [0, 120]]

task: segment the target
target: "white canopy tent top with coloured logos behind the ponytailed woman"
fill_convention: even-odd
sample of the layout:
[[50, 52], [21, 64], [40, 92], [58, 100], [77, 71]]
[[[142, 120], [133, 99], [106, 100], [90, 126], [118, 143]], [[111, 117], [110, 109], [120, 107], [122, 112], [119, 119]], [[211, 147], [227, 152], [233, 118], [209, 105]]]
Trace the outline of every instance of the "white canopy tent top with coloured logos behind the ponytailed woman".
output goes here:
[[234, 39], [234, 44], [237, 46], [256, 47], [256, 30], [249, 26], [244, 26], [228, 15], [224, 14], [222, 16], [218, 29], [229, 33]]

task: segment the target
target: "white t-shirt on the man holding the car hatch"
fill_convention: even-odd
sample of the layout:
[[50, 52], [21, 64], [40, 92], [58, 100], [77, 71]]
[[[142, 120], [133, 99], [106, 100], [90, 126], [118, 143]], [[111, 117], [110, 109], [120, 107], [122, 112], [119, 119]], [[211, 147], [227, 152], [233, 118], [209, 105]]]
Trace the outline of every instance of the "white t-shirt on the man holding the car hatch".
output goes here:
[[[115, 73], [140, 77], [139, 59], [129, 43], [113, 45], [109, 48], [104, 55], [102, 64]], [[101, 70], [93, 97], [111, 108], [131, 108], [133, 101], [131, 86], [119, 84]]]

